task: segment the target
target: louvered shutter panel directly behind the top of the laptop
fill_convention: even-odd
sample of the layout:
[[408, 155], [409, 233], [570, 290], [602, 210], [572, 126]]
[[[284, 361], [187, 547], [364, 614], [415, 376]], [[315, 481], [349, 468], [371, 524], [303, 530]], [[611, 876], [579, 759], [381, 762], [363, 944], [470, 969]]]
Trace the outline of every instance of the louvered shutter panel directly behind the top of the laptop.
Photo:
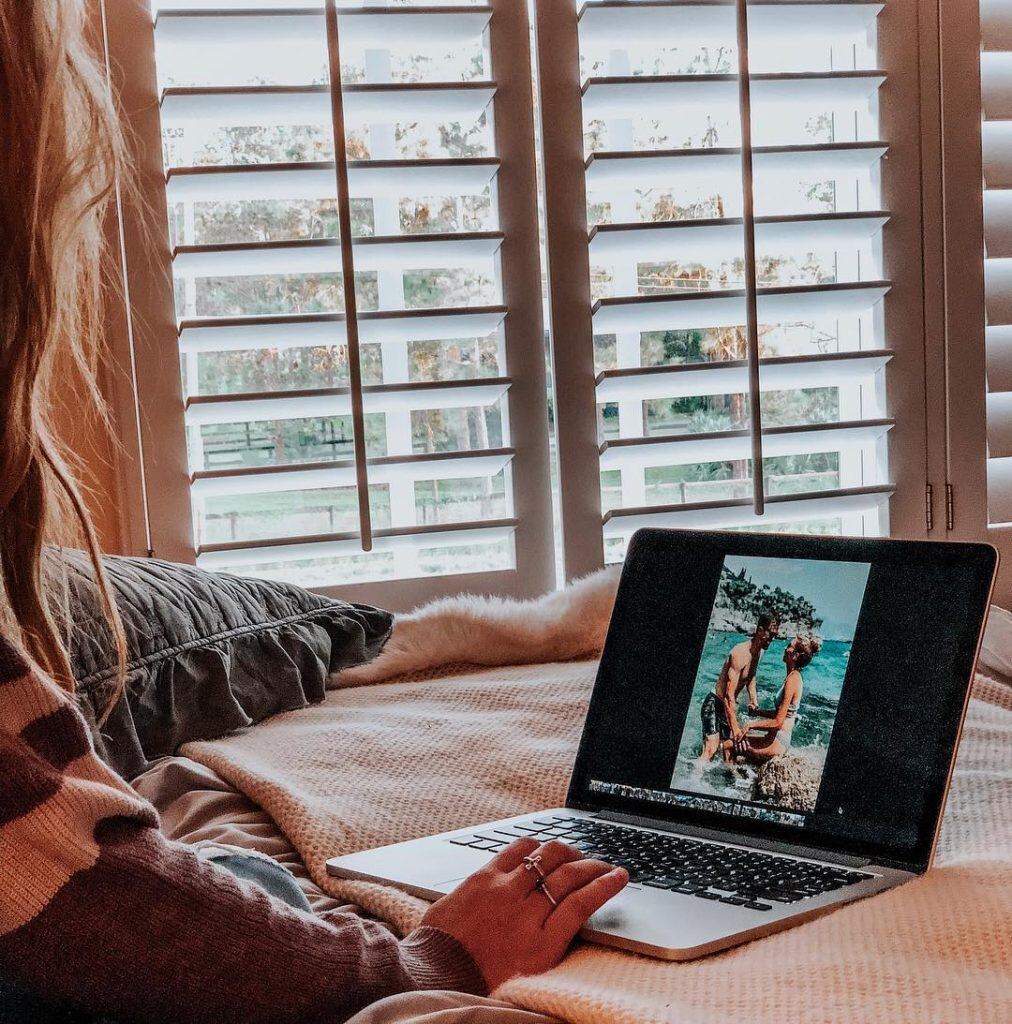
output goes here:
[[[914, 7], [888, 8], [895, 40]], [[906, 200], [886, 181], [886, 126], [902, 120], [916, 53], [881, 43], [884, 9], [756, 0], [743, 61], [733, 2], [539, 6], [553, 330], [594, 338], [592, 366], [586, 351], [555, 350], [556, 378], [580, 382], [557, 398], [563, 502], [567, 485], [582, 493], [599, 475], [600, 486], [599, 508], [584, 502], [567, 534], [571, 571], [602, 545], [620, 559], [642, 525], [889, 531], [889, 414], [903, 404], [889, 375], [903, 346], [904, 369], [923, 368], [923, 336], [898, 305], [898, 319], [887, 313], [886, 266], [918, 243], [916, 220], [890, 239]], [[902, 84], [884, 109], [890, 63]], [[916, 153], [897, 157], [893, 174], [911, 160], [916, 182]], [[920, 301], [918, 279], [905, 279], [903, 310]], [[568, 479], [567, 462], [581, 467]]]

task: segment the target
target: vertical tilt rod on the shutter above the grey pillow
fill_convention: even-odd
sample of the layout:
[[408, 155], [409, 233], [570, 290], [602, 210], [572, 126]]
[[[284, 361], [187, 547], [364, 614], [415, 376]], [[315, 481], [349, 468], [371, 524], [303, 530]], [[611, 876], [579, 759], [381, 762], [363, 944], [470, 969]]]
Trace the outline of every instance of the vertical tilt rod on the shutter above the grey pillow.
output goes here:
[[344, 133], [344, 92], [341, 87], [341, 49], [336, 0], [326, 0], [326, 14], [331, 119], [334, 128], [334, 174], [337, 179], [337, 216], [341, 241], [341, 281], [344, 288], [355, 490], [359, 498], [359, 532], [362, 539], [362, 550], [372, 551], [373, 523], [369, 508], [366, 418], [363, 409], [362, 359], [359, 348], [359, 303], [355, 296], [354, 256], [351, 251], [351, 196], [348, 187], [348, 147]]

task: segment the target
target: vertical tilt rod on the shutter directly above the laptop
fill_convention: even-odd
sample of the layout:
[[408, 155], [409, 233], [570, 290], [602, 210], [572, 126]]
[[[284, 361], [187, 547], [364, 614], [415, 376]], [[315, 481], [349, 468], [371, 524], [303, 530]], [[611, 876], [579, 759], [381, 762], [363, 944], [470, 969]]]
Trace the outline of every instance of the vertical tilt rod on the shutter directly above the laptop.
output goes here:
[[749, 78], [749, 4], [735, 0], [739, 110], [742, 122], [742, 221], [745, 243], [745, 343], [749, 364], [749, 429], [752, 435], [752, 505], [766, 505], [762, 460], [762, 399], [759, 391], [759, 311], [756, 291], [756, 218], [752, 179], [752, 88]]

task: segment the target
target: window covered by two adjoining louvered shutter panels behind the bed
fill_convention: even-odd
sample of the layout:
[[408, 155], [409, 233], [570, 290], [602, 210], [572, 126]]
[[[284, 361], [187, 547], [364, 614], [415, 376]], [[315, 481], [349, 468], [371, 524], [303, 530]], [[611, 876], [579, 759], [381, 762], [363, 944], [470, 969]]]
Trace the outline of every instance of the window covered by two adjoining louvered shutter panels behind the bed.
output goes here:
[[540, 592], [553, 447], [570, 577], [647, 524], [924, 536], [913, 0], [331, 7], [106, 0], [156, 554]]

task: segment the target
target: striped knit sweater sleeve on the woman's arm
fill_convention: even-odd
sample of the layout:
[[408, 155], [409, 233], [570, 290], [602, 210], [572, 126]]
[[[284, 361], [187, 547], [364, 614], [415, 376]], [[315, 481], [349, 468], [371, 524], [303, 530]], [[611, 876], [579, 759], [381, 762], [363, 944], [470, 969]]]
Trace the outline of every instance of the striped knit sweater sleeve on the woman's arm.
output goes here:
[[304, 913], [168, 842], [2, 637], [0, 975], [138, 1024], [329, 1024], [395, 992], [484, 992], [444, 932]]

